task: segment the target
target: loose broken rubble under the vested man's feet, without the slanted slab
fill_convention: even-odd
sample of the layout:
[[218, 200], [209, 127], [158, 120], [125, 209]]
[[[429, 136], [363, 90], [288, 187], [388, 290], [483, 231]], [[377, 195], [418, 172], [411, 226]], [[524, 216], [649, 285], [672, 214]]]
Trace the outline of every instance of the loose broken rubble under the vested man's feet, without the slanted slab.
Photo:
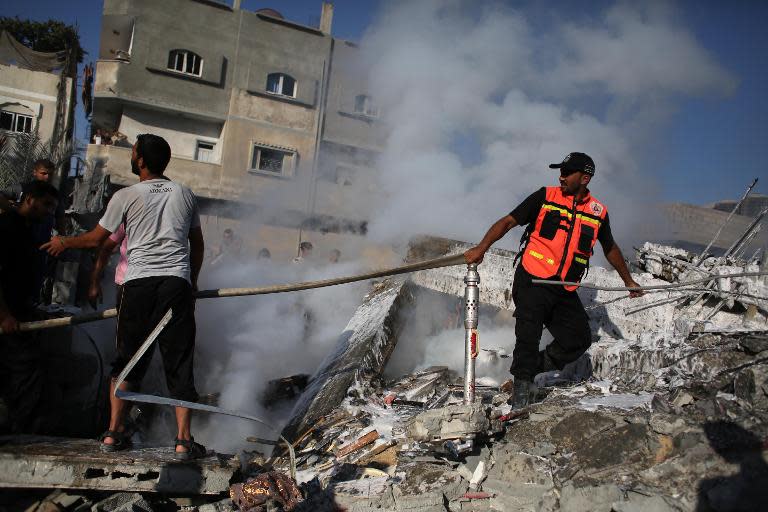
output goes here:
[[[669, 261], [693, 265], [688, 253], [644, 249], [641, 284], [692, 278]], [[694, 275], [757, 268], [705, 262]], [[621, 285], [597, 267], [586, 281]], [[298, 480], [350, 511], [759, 509], [768, 498], [765, 285], [728, 286], [694, 306], [581, 290], [596, 341], [563, 371], [539, 375], [537, 401], [522, 411], [510, 411], [504, 386], [479, 386], [477, 402], [463, 405], [461, 378], [446, 368], [358, 383], [297, 442]], [[726, 290], [762, 298], [729, 302]], [[287, 457], [275, 467], [287, 472]]]

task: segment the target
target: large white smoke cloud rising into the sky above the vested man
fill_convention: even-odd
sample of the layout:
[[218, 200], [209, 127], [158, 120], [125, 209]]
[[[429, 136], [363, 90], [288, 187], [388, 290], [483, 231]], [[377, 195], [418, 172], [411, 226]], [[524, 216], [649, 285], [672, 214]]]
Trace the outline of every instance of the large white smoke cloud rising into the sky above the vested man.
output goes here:
[[595, 159], [591, 189], [615, 212], [614, 231], [647, 223], [656, 185], [644, 155], [674, 100], [727, 94], [735, 79], [668, 4], [594, 15], [564, 5], [559, 16], [458, 0], [385, 5], [361, 44], [391, 128], [372, 237], [477, 241], [556, 184], [547, 164], [571, 151]]

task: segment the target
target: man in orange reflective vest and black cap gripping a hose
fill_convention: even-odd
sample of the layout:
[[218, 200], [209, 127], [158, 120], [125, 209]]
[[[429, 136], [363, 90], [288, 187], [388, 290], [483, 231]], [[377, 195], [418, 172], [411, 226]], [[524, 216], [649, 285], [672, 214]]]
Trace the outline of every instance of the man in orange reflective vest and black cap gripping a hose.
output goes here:
[[[562, 163], [549, 167], [560, 169], [560, 186], [542, 187], [528, 196], [496, 221], [477, 246], [464, 253], [467, 263], [481, 263], [485, 252], [507, 231], [528, 225], [512, 285], [516, 342], [510, 372], [515, 377], [511, 399], [515, 408], [528, 405], [536, 374], [561, 370], [592, 344], [587, 313], [576, 294], [578, 287], [534, 284], [532, 279], [579, 282], [599, 240], [624, 284], [638, 287], [611, 235], [607, 208], [587, 188], [595, 175], [592, 158], [570, 153]], [[640, 290], [630, 293], [631, 297], [640, 295]], [[545, 326], [554, 340], [540, 352]]]

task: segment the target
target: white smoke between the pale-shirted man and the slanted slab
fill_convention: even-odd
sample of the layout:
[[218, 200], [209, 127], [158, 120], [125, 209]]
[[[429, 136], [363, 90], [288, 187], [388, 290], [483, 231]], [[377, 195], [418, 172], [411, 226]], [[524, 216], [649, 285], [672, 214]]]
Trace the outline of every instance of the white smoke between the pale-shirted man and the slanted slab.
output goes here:
[[[359, 270], [353, 263], [315, 266], [311, 261], [295, 265], [260, 260], [206, 267], [200, 286], [268, 286], [352, 275]], [[300, 373], [314, 374], [365, 291], [363, 283], [198, 301], [198, 392], [221, 393], [221, 407], [260, 417], [281, 430], [290, 411], [261, 405], [267, 383]], [[276, 438], [274, 431], [250, 421], [220, 415], [198, 418], [203, 418], [195, 420], [202, 428], [193, 425], [193, 433], [219, 451], [242, 449], [249, 435]], [[264, 450], [260, 445], [252, 448]]]

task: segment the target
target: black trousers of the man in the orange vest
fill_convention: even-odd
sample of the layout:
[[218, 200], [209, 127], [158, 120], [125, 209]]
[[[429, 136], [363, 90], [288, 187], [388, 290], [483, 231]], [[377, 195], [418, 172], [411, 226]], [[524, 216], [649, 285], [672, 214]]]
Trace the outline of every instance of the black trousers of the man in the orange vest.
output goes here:
[[560, 369], [581, 357], [592, 344], [589, 318], [578, 294], [562, 286], [533, 284], [532, 278], [520, 264], [512, 284], [517, 340], [509, 371], [525, 380], [533, 380], [538, 373], [544, 327], [554, 337], [546, 348], [547, 355]]

